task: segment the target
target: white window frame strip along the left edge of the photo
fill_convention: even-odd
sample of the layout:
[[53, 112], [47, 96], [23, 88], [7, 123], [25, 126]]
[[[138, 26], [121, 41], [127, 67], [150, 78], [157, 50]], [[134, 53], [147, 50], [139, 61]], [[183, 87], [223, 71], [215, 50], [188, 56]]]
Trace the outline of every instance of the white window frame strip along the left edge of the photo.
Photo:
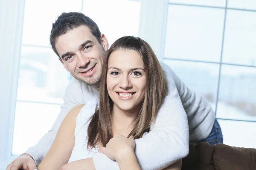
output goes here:
[[25, 0], [0, 1], [0, 169], [15, 159], [11, 151], [24, 5]]

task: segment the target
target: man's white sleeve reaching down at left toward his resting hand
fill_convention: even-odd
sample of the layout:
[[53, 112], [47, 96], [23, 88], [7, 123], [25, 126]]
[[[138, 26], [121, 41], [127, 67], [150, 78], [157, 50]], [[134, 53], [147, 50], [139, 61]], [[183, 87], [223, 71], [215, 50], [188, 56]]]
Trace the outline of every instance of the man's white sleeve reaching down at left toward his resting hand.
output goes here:
[[76, 79], [71, 79], [69, 85], [66, 88], [64, 95], [64, 104], [61, 106], [61, 112], [59, 113], [55, 123], [52, 128], [46, 133], [41, 140], [34, 146], [26, 150], [25, 153], [28, 153], [35, 160], [37, 166], [44, 159], [44, 156], [48, 152], [49, 148], [52, 146], [52, 143], [56, 137], [58, 128], [61, 125], [64, 117], [67, 113], [76, 105], [85, 104], [83, 101], [83, 96], [81, 93], [81, 82]]

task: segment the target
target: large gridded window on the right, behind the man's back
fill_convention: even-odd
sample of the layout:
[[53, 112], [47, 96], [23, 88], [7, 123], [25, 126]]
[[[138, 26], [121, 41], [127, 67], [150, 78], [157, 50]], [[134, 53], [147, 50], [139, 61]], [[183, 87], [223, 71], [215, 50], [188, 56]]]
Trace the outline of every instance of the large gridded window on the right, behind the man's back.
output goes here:
[[212, 104], [224, 143], [237, 147], [256, 148], [247, 133], [256, 126], [255, 8], [253, 0], [169, 0], [163, 61]]

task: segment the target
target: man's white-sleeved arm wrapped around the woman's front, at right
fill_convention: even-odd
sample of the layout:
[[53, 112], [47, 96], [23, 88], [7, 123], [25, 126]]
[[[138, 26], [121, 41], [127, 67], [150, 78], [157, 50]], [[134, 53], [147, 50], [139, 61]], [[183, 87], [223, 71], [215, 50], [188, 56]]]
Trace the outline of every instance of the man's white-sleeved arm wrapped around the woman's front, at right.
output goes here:
[[[136, 139], [135, 154], [143, 170], [163, 169], [189, 153], [189, 127], [175, 82], [165, 70], [169, 92], [151, 131]], [[116, 161], [102, 153], [93, 154], [96, 170], [118, 170]]]

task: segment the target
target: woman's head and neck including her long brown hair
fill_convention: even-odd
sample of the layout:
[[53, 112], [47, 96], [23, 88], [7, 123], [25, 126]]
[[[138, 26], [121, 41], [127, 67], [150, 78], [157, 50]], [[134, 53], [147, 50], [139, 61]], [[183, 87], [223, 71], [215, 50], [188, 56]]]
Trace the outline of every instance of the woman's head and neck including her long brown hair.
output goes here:
[[[105, 146], [115, 134], [137, 139], [149, 131], [166, 96], [167, 82], [147, 42], [129, 36], [111, 45], [102, 69], [100, 91], [99, 110], [88, 127], [88, 148], [97, 142]], [[116, 120], [126, 116], [129, 118]], [[115, 125], [122, 128], [112, 129]]]

